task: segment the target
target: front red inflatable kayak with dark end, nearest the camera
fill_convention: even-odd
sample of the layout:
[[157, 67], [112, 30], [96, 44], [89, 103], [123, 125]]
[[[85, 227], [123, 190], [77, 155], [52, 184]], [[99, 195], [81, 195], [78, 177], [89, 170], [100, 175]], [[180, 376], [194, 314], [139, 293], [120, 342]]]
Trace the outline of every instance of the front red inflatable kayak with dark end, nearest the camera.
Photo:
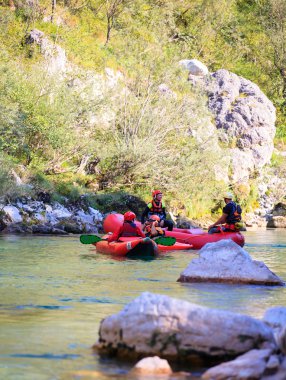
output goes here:
[[[108, 235], [103, 236], [103, 239]], [[114, 256], [132, 257], [155, 257], [158, 255], [157, 244], [151, 239], [142, 239], [135, 237], [128, 241], [115, 241], [108, 243], [106, 240], [101, 240], [93, 245], [96, 246], [96, 251]]]

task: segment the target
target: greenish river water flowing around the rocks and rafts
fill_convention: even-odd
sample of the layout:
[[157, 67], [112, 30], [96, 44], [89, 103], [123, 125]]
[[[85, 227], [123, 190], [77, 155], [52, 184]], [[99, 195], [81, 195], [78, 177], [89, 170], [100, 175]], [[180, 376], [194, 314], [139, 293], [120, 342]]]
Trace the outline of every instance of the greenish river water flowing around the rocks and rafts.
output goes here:
[[[245, 233], [245, 249], [286, 280], [286, 231]], [[0, 379], [124, 377], [128, 366], [91, 350], [100, 321], [144, 291], [261, 318], [286, 306], [286, 288], [181, 284], [196, 251], [153, 261], [116, 260], [81, 245], [78, 236], [0, 236]]]

